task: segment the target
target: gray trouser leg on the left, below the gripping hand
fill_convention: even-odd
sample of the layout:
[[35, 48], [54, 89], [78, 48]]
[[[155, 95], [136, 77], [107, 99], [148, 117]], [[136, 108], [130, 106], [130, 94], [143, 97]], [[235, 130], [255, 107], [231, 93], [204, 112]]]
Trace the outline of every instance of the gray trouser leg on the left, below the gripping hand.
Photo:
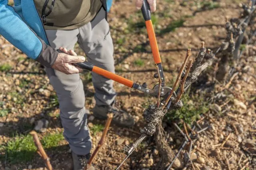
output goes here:
[[[74, 49], [78, 29], [46, 30], [50, 45], [58, 49]], [[85, 114], [85, 96], [79, 74], [64, 74], [52, 68], [46, 68], [60, 104], [60, 118], [64, 128], [64, 137], [75, 154], [88, 154], [92, 147]]]

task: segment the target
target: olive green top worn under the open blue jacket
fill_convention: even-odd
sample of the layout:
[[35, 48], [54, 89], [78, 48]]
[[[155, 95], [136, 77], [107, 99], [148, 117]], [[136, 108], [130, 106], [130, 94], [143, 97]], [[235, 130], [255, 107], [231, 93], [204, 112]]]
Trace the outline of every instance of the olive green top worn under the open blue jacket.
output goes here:
[[[34, 0], [41, 16], [45, 0]], [[49, 0], [45, 13], [49, 11]], [[90, 22], [102, 6], [100, 0], [55, 0], [52, 12], [46, 17], [45, 29], [76, 29]], [[49, 23], [49, 24], [48, 24]], [[49, 26], [53, 24], [53, 26]]]

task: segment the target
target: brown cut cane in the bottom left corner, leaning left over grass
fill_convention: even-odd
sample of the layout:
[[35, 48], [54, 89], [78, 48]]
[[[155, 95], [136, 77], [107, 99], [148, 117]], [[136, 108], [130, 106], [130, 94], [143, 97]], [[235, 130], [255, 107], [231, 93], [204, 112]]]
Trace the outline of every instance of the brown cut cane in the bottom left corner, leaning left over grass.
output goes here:
[[38, 139], [38, 135], [36, 133], [36, 131], [31, 131], [30, 135], [33, 136], [34, 139], [34, 143], [38, 149], [38, 152], [40, 153], [39, 155], [43, 158], [46, 167], [48, 168], [48, 170], [53, 170], [51, 162], [50, 162], [50, 158], [47, 156], [46, 152], [44, 151], [44, 148], [42, 147], [42, 144], [40, 143], [39, 139]]

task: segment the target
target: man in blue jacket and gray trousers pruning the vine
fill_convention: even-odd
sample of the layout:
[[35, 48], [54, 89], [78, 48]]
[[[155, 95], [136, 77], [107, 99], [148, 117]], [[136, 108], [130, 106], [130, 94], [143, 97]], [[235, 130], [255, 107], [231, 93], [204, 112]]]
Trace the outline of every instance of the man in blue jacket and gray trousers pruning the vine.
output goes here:
[[[148, 0], [151, 11], [156, 0]], [[140, 9], [143, 0], [136, 0]], [[90, 158], [92, 146], [85, 114], [81, 68], [72, 63], [85, 61], [72, 51], [76, 42], [90, 63], [114, 72], [113, 43], [106, 17], [106, 0], [0, 0], [0, 34], [10, 43], [45, 66], [50, 83], [58, 95], [64, 137], [72, 150], [74, 170], [81, 170]], [[60, 49], [62, 53], [59, 53]], [[69, 49], [69, 51], [67, 50]], [[95, 117], [131, 127], [131, 115], [114, 107], [113, 81], [92, 73], [95, 88]], [[91, 170], [94, 167], [90, 167]]]

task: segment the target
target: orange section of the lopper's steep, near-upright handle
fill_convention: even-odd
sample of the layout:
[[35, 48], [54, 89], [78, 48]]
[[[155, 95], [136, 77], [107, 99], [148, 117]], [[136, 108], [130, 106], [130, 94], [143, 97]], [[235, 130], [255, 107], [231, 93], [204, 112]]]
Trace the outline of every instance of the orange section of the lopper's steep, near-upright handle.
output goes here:
[[156, 64], [159, 64], [159, 63], [161, 63], [161, 58], [160, 58], [160, 54], [159, 54], [159, 50], [158, 50], [158, 46], [157, 46], [157, 42], [156, 42], [156, 35], [155, 35], [152, 21], [148, 20], [148, 21], [145, 21], [145, 23], [146, 23], [148, 39], [149, 39], [150, 47], [152, 49], [154, 61]]

